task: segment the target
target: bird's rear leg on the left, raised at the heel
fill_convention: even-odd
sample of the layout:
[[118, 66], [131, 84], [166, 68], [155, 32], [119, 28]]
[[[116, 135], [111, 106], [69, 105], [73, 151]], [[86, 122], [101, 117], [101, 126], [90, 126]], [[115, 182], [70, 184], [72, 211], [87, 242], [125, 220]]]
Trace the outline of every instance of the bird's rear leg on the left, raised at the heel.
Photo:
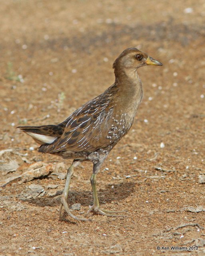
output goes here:
[[64, 206], [64, 209], [67, 212], [67, 214], [69, 216], [71, 216], [72, 218], [74, 218], [75, 220], [83, 220], [83, 221], [89, 220], [89, 219], [85, 219], [85, 218], [78, 218], [75, 215], [73, 215], [70, 212], [70, 209], [68, 207], [68, 202], [67, 202], [70, 180], [71, 180], [71, 178], [74, 174], [74, 167], [78, 166], [79, 163], [80, 163], [80, 161], [74, 160], [72, 165], [68, 168], [67, 176], [66, 176], [66, 185], [65, 185], [65, 188], [64, 188], [61, 200], [60, 200], [61, 201], [60, 208], [59, 208], [59, 217], [60, 217], [60, 219], [62, 218], [61, 212], [62, 212], [62, 207]]

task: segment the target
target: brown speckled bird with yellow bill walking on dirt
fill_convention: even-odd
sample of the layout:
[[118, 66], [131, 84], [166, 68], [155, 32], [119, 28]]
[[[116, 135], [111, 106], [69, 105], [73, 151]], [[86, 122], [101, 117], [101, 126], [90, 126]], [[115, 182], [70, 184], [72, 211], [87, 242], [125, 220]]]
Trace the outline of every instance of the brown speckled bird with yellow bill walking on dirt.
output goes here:
[[147, 65], [163, 64], [137, 48], [127, 48], [113, 63], [115, 82], [105, 92], [70, 114], [62, 123], [17, 127], [40, 144], [38, 152], [74, 159], [67, 170], [66, 184], [60, 199], [60, 219], [64, 207], [68, 216], [75, 220], [90, 220], [89, 217], [79, 218], [72, 214], [67, 202], [74, 168], [83, 161], [93, 164], [90, 178], [93, 205], [86, 216], [92, 211], [108, 217], [124, 216], [121, 213], [125, 211], [109, 211], [100, 207], [96, 175], [109, 152], [133, 124], [143, 96], [137, 69]]

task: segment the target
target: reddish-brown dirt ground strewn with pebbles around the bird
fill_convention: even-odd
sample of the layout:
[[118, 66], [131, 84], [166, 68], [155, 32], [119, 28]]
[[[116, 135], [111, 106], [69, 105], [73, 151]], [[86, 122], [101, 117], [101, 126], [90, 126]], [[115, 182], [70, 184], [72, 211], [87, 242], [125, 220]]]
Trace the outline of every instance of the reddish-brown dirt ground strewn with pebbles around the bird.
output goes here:
[[[19, 176], [0, 187], [0, 255], [205, 255], [204, 1], [7, 0], [0, 23], [0, 185]], [[62, 122], [113, 83], [128, 47], [163, 66], [139, 69], [135, 123], [97, 178], [103, 208], [127, 217], [60, 221], [72, 160], [15, 127]], [[36, 164], [48, 172], [32, 178]], [[91, 174], [86, 162], [72, 179], [76, 216], [92, 204]]]

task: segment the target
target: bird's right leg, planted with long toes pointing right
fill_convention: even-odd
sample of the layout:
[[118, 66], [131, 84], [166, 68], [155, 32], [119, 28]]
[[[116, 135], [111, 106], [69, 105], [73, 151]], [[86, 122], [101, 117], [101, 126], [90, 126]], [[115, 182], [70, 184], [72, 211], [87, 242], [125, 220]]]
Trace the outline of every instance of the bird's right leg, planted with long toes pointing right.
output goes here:
[[91, 211], [99, 212], [100, 214], [108, 217], [120, 217], [124, 215], [116, 215], [116, 213], [121, 213], [125, 211], [107, 211], [100, 208], [99, 200], [98, 200], [98, 192], [96, 188], [96, 175], [100, 169], [101, 164], [94, 164], [93, 166], [93, 174], [90, 178], [92, 191], [93, 191], [93, 205], [90, 207], [86, 215], [88, 215]]

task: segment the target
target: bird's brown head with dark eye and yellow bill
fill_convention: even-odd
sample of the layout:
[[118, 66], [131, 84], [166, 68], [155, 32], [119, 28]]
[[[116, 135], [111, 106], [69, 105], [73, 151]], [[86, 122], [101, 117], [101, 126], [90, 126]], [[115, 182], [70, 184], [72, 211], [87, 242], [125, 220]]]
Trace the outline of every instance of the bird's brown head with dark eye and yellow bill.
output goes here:
[[146, 65], [162, 66], [163, 64], [137, 48], [127, 48], [115, 60], [113, 68], [117, 72], [117, 70], [122, 71], [123, 69], [137, 70], [137, 68]]

